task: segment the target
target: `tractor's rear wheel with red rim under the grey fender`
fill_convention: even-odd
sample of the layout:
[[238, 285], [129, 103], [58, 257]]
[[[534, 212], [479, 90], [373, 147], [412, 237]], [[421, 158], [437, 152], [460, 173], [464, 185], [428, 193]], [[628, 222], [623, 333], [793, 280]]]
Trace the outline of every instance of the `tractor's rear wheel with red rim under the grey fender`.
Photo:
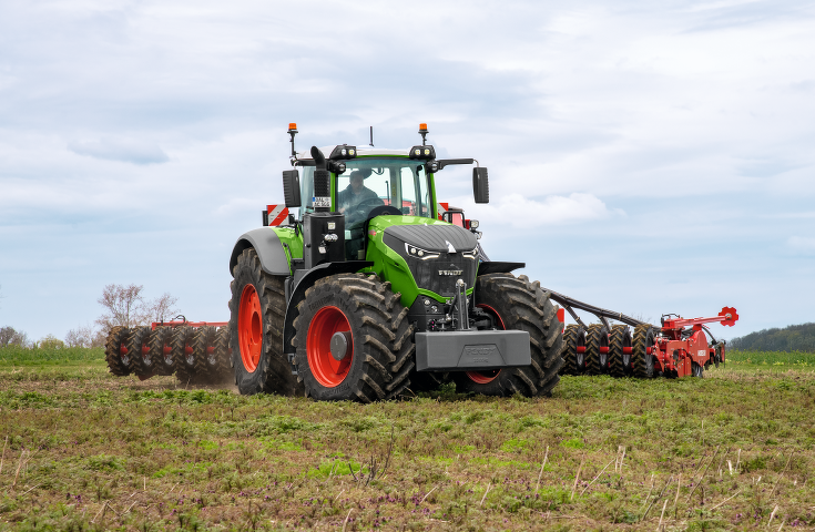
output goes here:
[[292, 365], [283, 352], [284, 278], [265, 273], [253, 248], [241, 253], [232, 276], [230, 347], [237, 389], [245, 396], [303, 395], [303, 385], [292, 374]]

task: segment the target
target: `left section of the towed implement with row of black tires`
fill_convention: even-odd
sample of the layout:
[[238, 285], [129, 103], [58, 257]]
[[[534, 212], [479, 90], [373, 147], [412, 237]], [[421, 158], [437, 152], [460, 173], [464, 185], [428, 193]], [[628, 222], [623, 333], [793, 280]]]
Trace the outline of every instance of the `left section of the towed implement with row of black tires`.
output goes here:
[[[113, 327], [105, 342], [108, 369], [140, 379], [175, 375], [183, 383], [228, 379], [230, 328], [225, 321], [181, 320]], [[177, 319], [177, 318], [176, 318]]]

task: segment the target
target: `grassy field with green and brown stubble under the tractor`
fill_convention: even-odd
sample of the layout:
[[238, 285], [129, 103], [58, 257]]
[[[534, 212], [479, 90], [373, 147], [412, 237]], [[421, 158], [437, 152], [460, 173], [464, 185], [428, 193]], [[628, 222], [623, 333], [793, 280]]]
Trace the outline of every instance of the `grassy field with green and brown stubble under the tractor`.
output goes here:
[[0, 349], [0, 529], [812, 529], [815, 355], [729, 360], [360, 406]]

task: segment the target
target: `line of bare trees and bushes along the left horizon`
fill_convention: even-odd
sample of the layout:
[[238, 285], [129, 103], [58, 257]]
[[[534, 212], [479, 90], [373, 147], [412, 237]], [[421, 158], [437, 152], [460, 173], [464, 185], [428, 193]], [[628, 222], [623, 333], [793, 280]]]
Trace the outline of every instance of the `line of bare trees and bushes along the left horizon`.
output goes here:
[[81, 325], [65, 334], [61, 340], [48, 335], [40, 340], [32, 340], [22, 330], [13, 327], [0, 327], [0, 348], [20, 346], [27, 348], [61, 347], [103, 347], [110, 330], [115, 326], [139, 327], [152, 321], [170, 321], [180, 314], [176, 308], [179, 299], [165, 293], [154, 299], [143, 295], [143, 285], [115, 285], [104, 287], [96, 301], [103, 313], [93, 324]]

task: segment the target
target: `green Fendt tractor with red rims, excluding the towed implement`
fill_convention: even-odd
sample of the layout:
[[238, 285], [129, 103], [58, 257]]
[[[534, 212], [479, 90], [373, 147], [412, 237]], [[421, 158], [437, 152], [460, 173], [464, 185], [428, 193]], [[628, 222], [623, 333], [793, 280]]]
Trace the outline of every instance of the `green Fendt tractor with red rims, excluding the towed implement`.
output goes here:
[[[435, 180], [487, 168], [410, 150], [295, 150], [285, 207], [242, 235], [230, 258], [231, 365], [241, 393], [370, 402], [455, 381], [488, 396], [549, 396], [563, 365], [562, 317], [539, 283], [488, 260], [476, 221], [439, 219]], [[289, 214], [289, 208], [298, 214]], [[449, 213], [448, 213], [449, 214]], [[461, 213], [459, 213], [461, 214]]]

